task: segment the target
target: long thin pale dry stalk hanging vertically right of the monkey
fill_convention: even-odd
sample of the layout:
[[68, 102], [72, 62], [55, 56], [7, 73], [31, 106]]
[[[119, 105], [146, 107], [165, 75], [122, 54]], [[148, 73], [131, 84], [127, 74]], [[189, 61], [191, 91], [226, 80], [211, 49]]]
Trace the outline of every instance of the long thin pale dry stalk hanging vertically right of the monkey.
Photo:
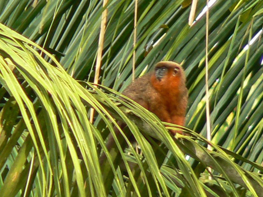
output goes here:
[[[209, 0], [206, 0], [206, 22], [205, 22], [205, 103], [206, 103], [206, 130], [207, 130], [207, 140], [211, 141], [211, 126], [210, 126], [210, 110], [209, 110], [209, 89], [208, 89], [208, 30], [209, 30]], [[207, 145], [208, 150], [212, 150], [210, 144]], [[211, 173], [211, 168], [208, 167], [208, 171]], [[209, 176], [209, 180], [212, 176]]]

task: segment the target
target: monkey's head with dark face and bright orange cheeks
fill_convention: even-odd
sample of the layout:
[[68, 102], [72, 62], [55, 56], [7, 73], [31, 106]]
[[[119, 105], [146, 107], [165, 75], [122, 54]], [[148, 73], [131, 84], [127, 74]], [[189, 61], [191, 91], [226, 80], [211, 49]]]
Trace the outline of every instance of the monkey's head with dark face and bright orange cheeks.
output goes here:
[[183, 68], [176, 62], [158, 62], [151, 76], [153, 87], [159, 92], [173, 90], [179, 93], [185, 89], [185, 74]]

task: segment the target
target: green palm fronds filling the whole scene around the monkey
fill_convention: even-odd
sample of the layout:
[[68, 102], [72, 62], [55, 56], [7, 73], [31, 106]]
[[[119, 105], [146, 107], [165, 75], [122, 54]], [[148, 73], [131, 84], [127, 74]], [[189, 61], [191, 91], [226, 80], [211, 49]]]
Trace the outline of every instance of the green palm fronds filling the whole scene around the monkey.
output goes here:
[[[205, 16], [190, 27], [190, 0], [139, 0], [134, 48], [134, 1], [110, 0], [95, 87], [102, 3], [0, 2], [0, 196], [263, 196], [263, 1], [217, 0], [209, 8], [213, 151], [202, 137]], [[196, 16], [205, 5], [198, 1]], [[153, 114], [118, 99], [132, 80], [134, 50], [136, 77], [161, 60], [183, 62], [186, 127], [200, 135], [173, 139]], [[139, 151], [128, 138], [106, 149], [115, 119]], [[103, 165], [101, 150], [109, 157]]]

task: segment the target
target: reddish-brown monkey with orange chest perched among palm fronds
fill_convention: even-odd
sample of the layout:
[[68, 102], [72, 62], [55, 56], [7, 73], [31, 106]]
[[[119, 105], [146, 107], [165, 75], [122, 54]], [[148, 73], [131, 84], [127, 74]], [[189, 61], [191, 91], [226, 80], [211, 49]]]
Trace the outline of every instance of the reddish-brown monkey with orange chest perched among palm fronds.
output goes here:
[[[158, 62], [154, 71], [135, 79], [123, 94], [153, 112], [161, 121], [184, 126], [188, 91], [184, 70], [179, 64]], [[121, 124], [121, 127], [123, 126]], [[115, 132], [120, 135], [119, 131]], [[170, 130], [170, 133], [183, 134], [178, 130]], [[114, 139], [109, 135], [107, 148], [111, 149], [113, 144]], [[103, 153], [100, 163], [103, 163], [105, 158]]]

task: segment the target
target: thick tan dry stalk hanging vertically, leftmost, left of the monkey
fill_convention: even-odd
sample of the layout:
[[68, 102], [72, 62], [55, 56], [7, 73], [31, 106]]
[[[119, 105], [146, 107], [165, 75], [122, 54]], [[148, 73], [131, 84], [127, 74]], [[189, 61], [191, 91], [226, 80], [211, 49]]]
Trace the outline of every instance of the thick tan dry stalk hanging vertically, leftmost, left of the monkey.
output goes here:
[[[108, 3], [108, 0], [103, 0], [103, 8], [105, 8], [106, 4]], [[97, 53], [97, 59], [96, 59], [96, 69], [95, 69], [95, 77], [94, 77], [94, 84], [98, 84], [99, 82], [99, 76], [100, 76], [100, 70], [101, 70], [101, 62], [102, 62], [102, 50], [103, 50], [103, 44], [104, 44], [104, 35], [106, 30], [106, 22], [107, 22], [107, 14], [108, 9], [106, 8], [102, 12], [101, 16], [101, 31], [99, 36], [99, 48]], [[90, 111], [90, 122], [93, 122], [94, 117], [94, 108], [91, 108]]]

